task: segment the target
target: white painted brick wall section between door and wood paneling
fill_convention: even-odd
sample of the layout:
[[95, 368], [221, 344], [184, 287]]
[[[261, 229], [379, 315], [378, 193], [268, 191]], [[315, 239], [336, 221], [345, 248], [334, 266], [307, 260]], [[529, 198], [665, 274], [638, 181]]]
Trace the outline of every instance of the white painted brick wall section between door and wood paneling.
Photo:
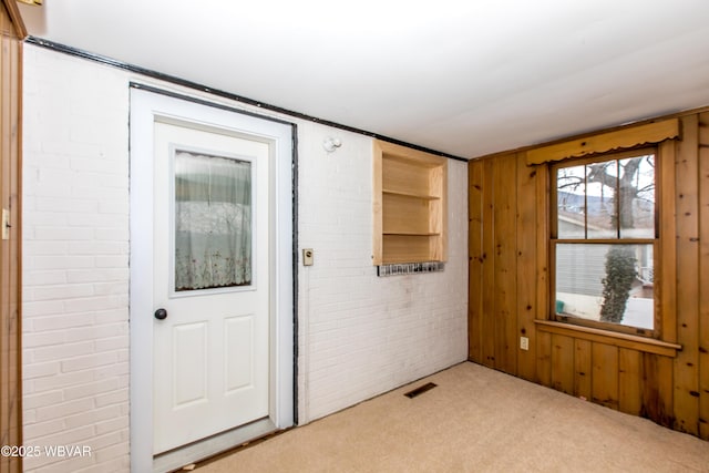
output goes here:
[[[329, 133], [329, 134], [328, 134]], [[322, 140], [342, 147], [326, 153]], [[372, 142], [299, 125], [301, 358], [299, 415], [310, 421], [465, 360], [465, 163], [449, 161], [449, 263], [443, 273], [377, 277], [372, 266]]]

